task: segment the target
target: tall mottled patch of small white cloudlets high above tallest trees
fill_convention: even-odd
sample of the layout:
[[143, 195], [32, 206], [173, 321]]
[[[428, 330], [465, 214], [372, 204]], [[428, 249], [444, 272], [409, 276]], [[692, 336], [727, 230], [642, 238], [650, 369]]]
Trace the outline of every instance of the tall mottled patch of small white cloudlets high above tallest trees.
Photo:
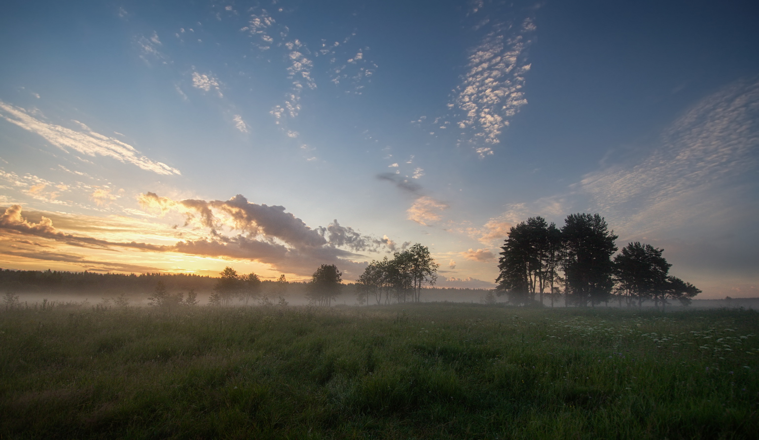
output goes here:
[[453, 104], [461, 112], [458, 127], [480, 158], [493, 154], [492, 146], [500, 142], [509, 119], [527, 104], [522, 89], [531, 64], [524, 57], [530, 44], [527, 35], [534, 29], [529, 17], [518, 26], [493, 24], [482, 42], [470, 50], [468, 72]]

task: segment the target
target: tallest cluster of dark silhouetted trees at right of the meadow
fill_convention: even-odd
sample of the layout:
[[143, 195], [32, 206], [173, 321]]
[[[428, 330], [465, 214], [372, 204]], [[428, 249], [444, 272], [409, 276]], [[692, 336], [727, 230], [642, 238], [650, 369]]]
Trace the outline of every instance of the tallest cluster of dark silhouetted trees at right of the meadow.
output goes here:
[[496, 294], [518, 305], [594, 306], [618, 300], [641, 306], [653, 300], [688, 303], [701, 293], [693, 284], [669, 275], [663, 249], [630, 243], [615, 255], [618, 238], [598, 214], [572, 214], [562, 228], [542, 217], [528, 218], [509, 230], [499, 259]]

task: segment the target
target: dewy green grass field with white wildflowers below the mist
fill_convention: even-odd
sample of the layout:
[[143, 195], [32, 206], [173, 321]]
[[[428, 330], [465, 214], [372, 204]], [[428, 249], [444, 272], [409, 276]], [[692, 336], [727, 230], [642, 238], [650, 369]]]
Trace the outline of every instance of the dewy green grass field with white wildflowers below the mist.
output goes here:
[[757, 438], [759, 313], [0, 312], [0, 438]]

